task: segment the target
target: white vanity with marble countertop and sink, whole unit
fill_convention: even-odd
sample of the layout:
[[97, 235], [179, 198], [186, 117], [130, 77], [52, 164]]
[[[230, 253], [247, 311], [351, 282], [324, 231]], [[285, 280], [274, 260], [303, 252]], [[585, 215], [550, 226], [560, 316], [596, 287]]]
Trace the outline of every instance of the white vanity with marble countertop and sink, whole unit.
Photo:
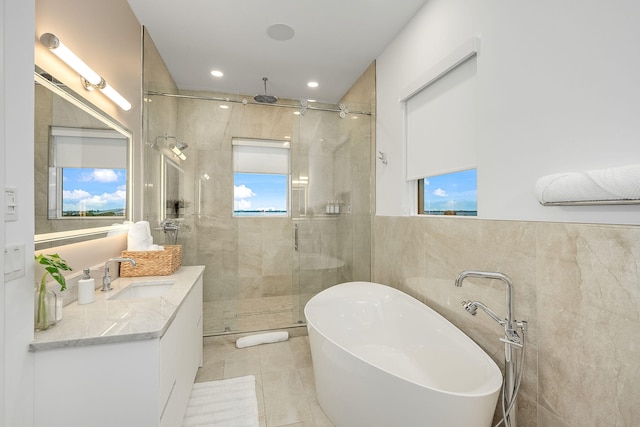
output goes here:
[[[114, 280], [112, 291], [66, 306], [60, 323], [37, 332], [34, 424], [181, 425], [202, 365], [203, 271], [189, 266], [171, 276]], [[171, 284], [162, 296], [128, 296], [125, 289], [162, 284]]]

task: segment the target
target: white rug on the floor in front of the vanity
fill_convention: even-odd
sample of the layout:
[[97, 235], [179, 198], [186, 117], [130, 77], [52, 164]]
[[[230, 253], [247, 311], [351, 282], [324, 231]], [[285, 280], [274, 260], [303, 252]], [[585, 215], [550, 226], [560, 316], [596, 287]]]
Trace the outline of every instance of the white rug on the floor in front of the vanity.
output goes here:
[[259, 427], [256, 378], [195, 383], [182, 427]]

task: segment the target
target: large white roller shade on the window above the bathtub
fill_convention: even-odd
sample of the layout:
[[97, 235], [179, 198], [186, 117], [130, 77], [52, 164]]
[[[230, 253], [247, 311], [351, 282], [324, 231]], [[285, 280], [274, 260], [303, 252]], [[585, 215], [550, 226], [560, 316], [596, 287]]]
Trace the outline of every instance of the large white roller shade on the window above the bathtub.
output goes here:
[[407, 180], [476, 167], [476, 57], [406, 100]]

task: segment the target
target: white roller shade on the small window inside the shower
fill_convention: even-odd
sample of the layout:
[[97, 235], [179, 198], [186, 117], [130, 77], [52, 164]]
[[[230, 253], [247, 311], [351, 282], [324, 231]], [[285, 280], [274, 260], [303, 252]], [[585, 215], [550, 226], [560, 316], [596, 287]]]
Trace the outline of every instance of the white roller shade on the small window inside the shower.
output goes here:
[[238, 139], [233, 144], [233, 171], [240, 173], [289, 173], [289, 143]]

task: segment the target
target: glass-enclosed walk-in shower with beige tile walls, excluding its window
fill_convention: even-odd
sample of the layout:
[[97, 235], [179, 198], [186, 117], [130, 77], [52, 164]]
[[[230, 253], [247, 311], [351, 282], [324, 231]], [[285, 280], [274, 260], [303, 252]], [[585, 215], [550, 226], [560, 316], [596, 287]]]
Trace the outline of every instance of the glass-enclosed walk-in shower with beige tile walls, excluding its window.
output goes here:
[[[317, 292], [369, 280], [371, 104], [178, 91], [154, 49], [145, 35], [144, 216], [158, 243], [170, 218], [183, 264], [206, 266], [205, 335], [301, 325]], [[234, 216], [234, 138], [288, 142], [285, 215]]]

